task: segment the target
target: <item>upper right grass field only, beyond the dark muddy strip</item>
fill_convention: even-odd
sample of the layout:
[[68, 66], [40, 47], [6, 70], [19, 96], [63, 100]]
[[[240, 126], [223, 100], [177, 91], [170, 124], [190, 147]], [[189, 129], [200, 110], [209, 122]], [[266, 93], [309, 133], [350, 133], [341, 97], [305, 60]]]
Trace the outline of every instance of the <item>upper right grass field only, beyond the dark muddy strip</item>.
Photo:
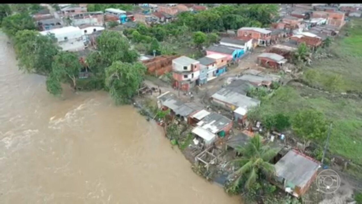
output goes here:
[[313, 85], [331, 90], [328, 79], [337, 77], [338, 85], [336, 91], [361, 91], [362, 89], [362, 20], [354, 19], [343, 29], [343, 33], [348, 32], [349, 36], [342, 35], [334, 40], [333, 45], [328, 48], [328, 52], [335, 57], [325, 60], [315, 61], [311, 71]]

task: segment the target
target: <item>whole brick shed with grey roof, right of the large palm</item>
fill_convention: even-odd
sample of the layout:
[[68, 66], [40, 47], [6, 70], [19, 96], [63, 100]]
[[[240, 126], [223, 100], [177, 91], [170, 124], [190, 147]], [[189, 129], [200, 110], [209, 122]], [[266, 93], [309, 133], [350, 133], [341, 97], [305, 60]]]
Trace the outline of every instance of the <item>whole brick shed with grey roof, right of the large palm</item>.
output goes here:
[[320, 163], [297, 150], [290, 150], [274, 166], [276, 176], [271, 182], [300, 197], [315, 180]]

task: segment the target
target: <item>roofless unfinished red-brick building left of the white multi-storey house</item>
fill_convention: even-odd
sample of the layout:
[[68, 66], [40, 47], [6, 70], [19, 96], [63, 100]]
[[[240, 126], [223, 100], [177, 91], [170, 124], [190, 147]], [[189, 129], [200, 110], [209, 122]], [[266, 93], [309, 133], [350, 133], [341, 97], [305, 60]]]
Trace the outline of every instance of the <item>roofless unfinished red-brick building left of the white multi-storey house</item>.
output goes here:
[[144, 60], [143, 64], [147, 67], [147, 73], [150, 75], [161, 76], [171, 72], [172, 60], [180, 57], [180, 55], [161, 55], [155, 58]]

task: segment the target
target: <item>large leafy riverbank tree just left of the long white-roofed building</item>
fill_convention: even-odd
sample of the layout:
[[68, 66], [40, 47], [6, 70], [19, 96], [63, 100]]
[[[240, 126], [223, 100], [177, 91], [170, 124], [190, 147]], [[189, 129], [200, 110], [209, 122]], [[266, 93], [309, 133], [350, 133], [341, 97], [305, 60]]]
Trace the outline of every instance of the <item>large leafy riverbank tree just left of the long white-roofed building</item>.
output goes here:
[[53, 57], [59, 48], [51, 36], [40, 35], [35, 30], [20, 30], [14, 37], [14, 48], [19, 68], [28, 73], [48, 75]]

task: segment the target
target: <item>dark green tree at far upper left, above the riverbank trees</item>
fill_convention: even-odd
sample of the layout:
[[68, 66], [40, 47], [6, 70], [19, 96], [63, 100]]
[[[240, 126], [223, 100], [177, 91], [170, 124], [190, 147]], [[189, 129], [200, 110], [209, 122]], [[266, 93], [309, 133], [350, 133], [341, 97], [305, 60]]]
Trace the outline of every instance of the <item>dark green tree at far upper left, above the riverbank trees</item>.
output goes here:
[[35, 23], [27, 13], [17, 13], [3, 18], [3, 31], [9, 36], [15, 36], [19, 30], [35, 30]]

